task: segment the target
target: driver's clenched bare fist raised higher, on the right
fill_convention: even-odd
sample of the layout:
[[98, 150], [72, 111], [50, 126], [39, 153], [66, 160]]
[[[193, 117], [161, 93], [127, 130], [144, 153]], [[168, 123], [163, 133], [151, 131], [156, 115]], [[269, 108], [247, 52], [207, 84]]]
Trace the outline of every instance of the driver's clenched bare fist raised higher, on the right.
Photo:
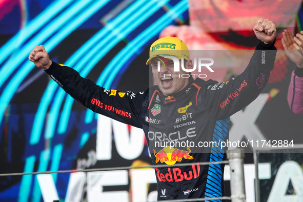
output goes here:
[[277, 30], [276, 26], [269, 19], [260, 18], [257, 24], [254, 26], [254, 32], [256, 37], [265, 43], [271, 43], [275, 40]]

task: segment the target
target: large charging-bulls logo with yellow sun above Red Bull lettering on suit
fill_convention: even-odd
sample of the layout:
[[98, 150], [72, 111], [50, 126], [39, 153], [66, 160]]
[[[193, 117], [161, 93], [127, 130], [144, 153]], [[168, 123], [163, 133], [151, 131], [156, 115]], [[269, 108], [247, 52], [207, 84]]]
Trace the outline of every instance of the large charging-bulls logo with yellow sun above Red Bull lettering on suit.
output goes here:
[[176, 161], [181, 161], [185, 159], [193, 159], [194, 157], [189, 155], [190, 147], [186, 148], [187, 151], [175, 149], [173, 147], [164, 147], [158, 153], [154, 150], [154, 155], [156, 157], [156, 163], [166, 163], [167, 165], [174, 165]]

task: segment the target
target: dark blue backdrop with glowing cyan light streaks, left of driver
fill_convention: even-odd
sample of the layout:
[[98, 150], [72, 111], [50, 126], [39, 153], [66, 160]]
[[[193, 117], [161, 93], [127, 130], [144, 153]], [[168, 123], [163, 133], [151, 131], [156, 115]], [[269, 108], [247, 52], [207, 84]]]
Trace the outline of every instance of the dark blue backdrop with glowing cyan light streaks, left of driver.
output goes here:
[[[189, 17], [186, 0], [0, 1], [0, 9], [6, 10], [0, 18], [1, 173], [72, 169], [96, 131], [93, 114], [28, 61], [36, 45], [45, 45], [55, 62], [116, 88], [134, 61], [146, 60], [142, 53], [162, 29]], [[57, 176], [65, 198], [68, 175]], [[0, 178], [0, 200], [40, 201], [36, 177]]]

